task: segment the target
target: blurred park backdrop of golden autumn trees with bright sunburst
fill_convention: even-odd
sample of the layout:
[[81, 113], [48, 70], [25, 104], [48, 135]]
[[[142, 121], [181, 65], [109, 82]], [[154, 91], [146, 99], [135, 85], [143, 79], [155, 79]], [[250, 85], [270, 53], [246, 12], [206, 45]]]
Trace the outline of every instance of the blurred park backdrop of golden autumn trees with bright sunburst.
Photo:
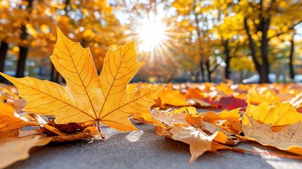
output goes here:
[[132, 82], [302, 82], [301, 23], [299, 0], [1, 0], [0, 71], [63, 82], [49, 58], [60, 27], [99, 72], [136, 39]]

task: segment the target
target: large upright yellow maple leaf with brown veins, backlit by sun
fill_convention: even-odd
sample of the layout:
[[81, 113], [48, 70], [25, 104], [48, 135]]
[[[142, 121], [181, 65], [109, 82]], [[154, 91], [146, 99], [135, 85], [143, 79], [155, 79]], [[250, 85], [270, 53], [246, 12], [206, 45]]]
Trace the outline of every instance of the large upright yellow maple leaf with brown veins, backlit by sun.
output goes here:
[[15, 78], [1, 73], [28, 101], [25, 111], [54, 115], [56, 123], [102, 123], [121, 131], [137, 130], [128, 119], [149, 112], [153, 95], [161, 90], [142, 87], [128, 93], [127, 83], [139, 70], [134, 42], [109, 50], [98, 75], [89, 49], [57, 29], [58, 40], [51, 61], [66, 86], [32, 77]]

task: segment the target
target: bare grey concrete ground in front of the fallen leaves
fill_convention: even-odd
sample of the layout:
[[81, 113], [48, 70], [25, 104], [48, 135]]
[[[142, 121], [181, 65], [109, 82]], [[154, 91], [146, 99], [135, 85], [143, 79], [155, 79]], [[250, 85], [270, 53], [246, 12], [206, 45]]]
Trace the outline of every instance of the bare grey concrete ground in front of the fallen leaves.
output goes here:
[[[139, 132], [104, 129], [106, 141], [51, 143], [30, 151], [30, 158], [8, 168], [302, 168], [302, 161], [260, 154], [219, 151], [206, 153], [189, 164], [189, 146], [156, 135], [150, 125], [137, 125]], [[244, 149], [287, 154], [248, 143]], [[4, 155], [4, 154], [2, 154]]]

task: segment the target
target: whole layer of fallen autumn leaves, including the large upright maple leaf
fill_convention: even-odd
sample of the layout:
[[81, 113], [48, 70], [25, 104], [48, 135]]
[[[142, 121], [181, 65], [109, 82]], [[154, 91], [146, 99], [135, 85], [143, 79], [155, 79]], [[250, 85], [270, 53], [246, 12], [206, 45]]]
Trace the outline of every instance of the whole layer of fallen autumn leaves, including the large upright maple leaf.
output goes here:
[[101, 127], [137, 130], [131, 120], [189, 144], [189, 162], [205, 151], [248, 151], [234, 147], [245, 140], [302, 156], [301, 85], [128, 84], [139, 70], [134, 42], [108, 51], [98, 75], [89, 49], [61, 30], [51, 61], [65, 86], [1, 73], [18, 91], [0, 88], [0, 153], [6, 154], [0, 168], [27, 158], [33, 146], [102, 139]]

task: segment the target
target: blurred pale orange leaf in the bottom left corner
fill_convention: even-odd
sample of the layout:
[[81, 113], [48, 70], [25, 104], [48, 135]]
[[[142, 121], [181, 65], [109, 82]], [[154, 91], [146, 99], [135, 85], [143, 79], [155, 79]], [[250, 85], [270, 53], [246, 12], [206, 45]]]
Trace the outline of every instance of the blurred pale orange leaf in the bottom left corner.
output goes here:
[[22, 138], [9, 138], [0, 141], [0, 168], [6, 168], [16, 161], [24, 160], [30, 156], [28, 151], [34, 146], [44, 146], [51, 141], [51, 137], [27, 136]]

